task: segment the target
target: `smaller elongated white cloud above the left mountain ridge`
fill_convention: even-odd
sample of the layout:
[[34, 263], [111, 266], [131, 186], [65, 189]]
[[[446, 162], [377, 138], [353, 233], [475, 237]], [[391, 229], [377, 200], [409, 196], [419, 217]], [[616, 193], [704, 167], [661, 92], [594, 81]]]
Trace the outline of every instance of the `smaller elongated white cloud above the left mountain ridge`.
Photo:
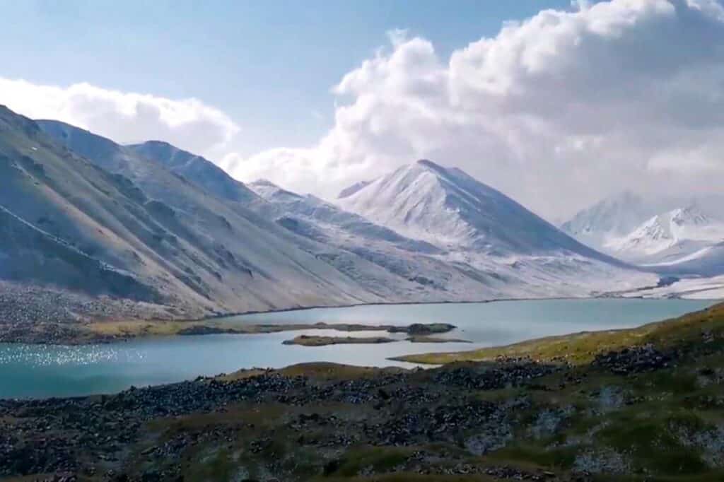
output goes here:
[[57, 87], [0, 78], [0, 103], [33, 119], [59, 119], [119, 143], [148, 139], [197, 153], [229, 148], [239, 127], [227, 114], [194, 98], [172, 100], [98, 88]]

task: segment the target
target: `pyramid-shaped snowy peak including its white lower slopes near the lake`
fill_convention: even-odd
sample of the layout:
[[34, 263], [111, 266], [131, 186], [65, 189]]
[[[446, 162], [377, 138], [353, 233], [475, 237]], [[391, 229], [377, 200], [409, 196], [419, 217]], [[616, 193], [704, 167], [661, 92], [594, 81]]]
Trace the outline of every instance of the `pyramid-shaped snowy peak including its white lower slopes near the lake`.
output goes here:
[[584, 296], [657, 280], [582, 245], [460, 169], [432, 161], [403, 166], [336, 202], [436, 246], [436, 258], [495, 277], [518, 296]]

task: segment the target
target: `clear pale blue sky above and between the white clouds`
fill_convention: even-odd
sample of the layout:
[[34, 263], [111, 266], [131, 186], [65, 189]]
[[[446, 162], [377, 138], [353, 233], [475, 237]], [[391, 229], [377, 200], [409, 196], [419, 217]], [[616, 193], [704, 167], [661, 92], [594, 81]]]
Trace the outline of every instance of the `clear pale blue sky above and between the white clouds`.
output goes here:
[[244, 155], [310, 145], [329, 89], [409, 29], [441, 56], [568, 0], [2, 0], [0, 76], [199, 98], [243, 126]]

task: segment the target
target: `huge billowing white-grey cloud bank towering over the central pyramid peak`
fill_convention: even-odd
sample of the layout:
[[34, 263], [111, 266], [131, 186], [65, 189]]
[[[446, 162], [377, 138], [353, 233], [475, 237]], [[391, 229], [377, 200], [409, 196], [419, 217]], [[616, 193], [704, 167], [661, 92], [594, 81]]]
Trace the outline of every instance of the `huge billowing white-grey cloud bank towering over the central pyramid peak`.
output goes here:
[[333, 88], [318, 144], [223, 164], [329, 197], [432, 158], [551, 217], [624, 188], [720, 190], [723, 12], [715, 0], [581, 1], [449, 59], [396, 30]]

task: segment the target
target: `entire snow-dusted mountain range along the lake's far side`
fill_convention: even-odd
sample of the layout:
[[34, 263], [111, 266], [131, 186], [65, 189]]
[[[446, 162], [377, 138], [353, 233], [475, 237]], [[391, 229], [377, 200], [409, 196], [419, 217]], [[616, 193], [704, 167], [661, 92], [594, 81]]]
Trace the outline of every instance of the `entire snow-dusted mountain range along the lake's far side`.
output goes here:
[[631, 196], [576, 216], [564, 225], [571, 236], [432, 161], [359, 182], [329, 203], [267, 181], [245, 185], [168, 143], [119, 145], [8, 109], [0, 176], [0, 282], [125, 300], [135, 318], [148, 307], [190, 318], [635, 290], [657, 285], [657, 269], [618, 261], [613, 248], [600, 253], [588, 234], [648, 253], [654, 241], [670, 250], [683, 235], [715, 231], [708, 213], [691, 209], [640, 227], [653, 214], [642, 205], [643, 219], [622, 218]]

